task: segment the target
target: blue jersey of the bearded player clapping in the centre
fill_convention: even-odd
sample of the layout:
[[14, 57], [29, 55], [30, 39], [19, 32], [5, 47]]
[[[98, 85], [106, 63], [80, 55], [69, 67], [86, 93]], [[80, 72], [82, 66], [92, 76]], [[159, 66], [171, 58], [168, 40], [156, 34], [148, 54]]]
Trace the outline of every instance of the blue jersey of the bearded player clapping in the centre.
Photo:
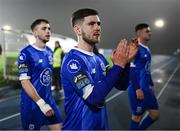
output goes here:
[[[101, 96], [107, 88], [109, 88], [108, 92], [112, 89], [110, 87], [112, 83], [113, 85], [117, 83], [118, 75], [122, 73], [122, 69], [113, 67], [113, 75], [103, 84], [102, 80], [105, 79], [108, 63], [105, 63], [105, 58], [102, 60], [101, 57], [80, 49], [73, 49], [65, 56], [61, 76], [65, 92], [66, 119], [62, 129], [109, 129], [104, 105], [106, 95]], [[111, 81], [111, 79], [115, 80]], [[109, 81], [110, 83], [108, 83]], [[101, 86], [96, 86], [98, 83]], [[106, 87], [108, 85], [110, 86]], [[93, 95], [98, 88], [102, 88], [101, 92], [98, 91], [96, 95]], [[90, 96], [92, 97], [91, 100]], [[101, 97], [101, 99], [97, 97]], [[97, 99], [100, 100], [97, 102]]]

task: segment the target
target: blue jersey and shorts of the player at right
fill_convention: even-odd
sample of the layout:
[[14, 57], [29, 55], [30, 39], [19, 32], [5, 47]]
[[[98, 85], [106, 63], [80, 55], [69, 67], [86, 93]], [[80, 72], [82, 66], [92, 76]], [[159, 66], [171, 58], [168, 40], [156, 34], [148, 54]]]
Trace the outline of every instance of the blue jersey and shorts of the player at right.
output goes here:
[[[158, 109], [158, 102], [152, 89], [151, 78], [151, 53], [147, 46], [138, 45], [138, 52], [130, 66], [130, 84], [128, 97], [131, 112], [134, 115], [143, 115], [146, 110]], [[144, 99], [139, 100], [136, 96], [136, 90], [142, 89]]]

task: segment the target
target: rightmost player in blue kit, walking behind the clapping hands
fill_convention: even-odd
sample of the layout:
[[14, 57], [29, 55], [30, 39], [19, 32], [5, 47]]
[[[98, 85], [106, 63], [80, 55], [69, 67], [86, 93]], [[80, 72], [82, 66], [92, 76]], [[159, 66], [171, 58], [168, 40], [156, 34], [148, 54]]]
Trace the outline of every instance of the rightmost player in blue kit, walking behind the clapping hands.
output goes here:
[[[154, 94], [154, 84], [151, 77], [151, 53], [147, 42], [151, 38], [149, 25], [142, 23], [135, 27], [138, 37], [138, 52], [130, 66], [130, 84], [128, 88], [132, 111], [131, 130], [147, 129], [159, 118], [157, 99]], [[149, 114], [142, 120], [143, 114]]]

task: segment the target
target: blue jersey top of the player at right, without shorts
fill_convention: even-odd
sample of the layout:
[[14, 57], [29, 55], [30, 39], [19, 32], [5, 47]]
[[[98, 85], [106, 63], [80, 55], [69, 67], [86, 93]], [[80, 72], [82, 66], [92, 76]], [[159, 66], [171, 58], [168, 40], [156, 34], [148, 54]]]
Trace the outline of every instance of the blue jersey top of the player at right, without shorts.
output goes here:
[[138, 52], [130, 65], [130, 85], [129, 88], [149, 91], [153, 86], [151, 78], [151, 53], [147, 46], [139, 44]]

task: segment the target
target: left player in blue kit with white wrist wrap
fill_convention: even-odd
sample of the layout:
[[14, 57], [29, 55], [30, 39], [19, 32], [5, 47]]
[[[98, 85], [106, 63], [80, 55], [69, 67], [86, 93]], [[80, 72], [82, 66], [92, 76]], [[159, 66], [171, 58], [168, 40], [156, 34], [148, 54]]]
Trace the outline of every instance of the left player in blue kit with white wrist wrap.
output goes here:
[[33, 45], [21, 50], [18, 57], [21, 92], [21, 121], [23, 130], [60, 130], [62, 118], [51, 94], [53, 54], [46, 46], [51, 36], [49, 22], [37, 19], [31, 25], [36, 38]]

